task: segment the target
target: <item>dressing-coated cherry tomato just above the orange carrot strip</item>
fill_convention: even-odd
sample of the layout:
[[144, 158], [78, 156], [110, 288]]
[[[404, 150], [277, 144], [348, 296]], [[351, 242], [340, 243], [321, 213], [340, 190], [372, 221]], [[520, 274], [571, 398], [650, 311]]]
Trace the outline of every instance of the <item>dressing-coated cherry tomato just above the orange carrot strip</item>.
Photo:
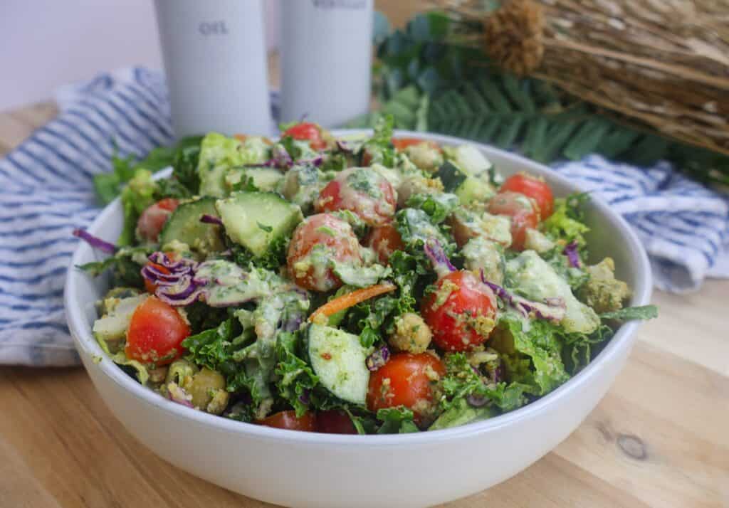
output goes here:
[[[316, 247], [316, 249], [314, 249]], [[312, 291], [330, 291], [342, 285], [328, 259], [362, 262], [359, 241], [352, 227], [330, 214], [316, 214], [299, 224], [289, 243], [286, 265], [299, 286]]]

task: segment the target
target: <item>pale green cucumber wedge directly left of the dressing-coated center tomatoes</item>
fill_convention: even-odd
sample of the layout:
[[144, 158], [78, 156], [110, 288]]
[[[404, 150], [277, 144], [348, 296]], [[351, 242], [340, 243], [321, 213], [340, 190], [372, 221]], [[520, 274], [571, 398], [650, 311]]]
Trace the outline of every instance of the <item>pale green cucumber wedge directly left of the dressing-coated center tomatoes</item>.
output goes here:
[[230, 198], [217, 200], [215, 206], [230, 239], [255, 257], [288, 238], [303, 220], [298, 205], [273, 192], [234, 192]]

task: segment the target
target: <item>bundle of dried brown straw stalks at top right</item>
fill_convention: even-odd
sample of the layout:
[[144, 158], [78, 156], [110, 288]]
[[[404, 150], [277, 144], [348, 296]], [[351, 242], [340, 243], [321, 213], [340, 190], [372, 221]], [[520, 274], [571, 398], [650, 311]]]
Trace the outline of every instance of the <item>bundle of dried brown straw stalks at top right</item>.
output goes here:
[[504, 69], [729, 154], [729, 0], [485, 3], [434, 1]]

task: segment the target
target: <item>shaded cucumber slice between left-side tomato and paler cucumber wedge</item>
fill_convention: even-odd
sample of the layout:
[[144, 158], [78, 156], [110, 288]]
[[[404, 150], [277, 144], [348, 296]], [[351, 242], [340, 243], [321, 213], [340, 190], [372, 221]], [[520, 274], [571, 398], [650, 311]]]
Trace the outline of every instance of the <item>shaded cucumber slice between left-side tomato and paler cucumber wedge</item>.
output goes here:
[[200, 217], [208, 214], [218, 216], [215, 198], [200, 198], [178, 206], [165, 223], [160, 233], [160, 245], [171, 241], [186, 243], [195, 252], [209, 254], [225, 249], [220, 227], [216, 224], [200, 222]]

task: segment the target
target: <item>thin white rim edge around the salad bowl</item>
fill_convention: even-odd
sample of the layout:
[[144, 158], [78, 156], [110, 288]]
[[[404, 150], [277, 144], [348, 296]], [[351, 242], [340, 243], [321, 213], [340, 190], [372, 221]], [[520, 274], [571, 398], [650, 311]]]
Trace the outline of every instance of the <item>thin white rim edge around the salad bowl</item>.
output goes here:
[[[371, 132], [372, 130], [367, 129], [332, 130], [332, 133], [335, 136], [356, 136], [358, 134]], [[550, 181], [557, 181], [564, 187], [573, 189], [577, 192], [580, 192], [581, 190], [579, 186], [574, 184], [572, 181], [569, 181], [564, 176], [561, 176], [553, 169], [529, 160], [526, 157], [522, 157], [521, 155], [516, 155], [512, 152], [507, 152], [493, 146], [453, 136], [421, 133], [411, 130], [395, 130], [394, 134], [397, 136], [422, 138], [424, 140], [431, 140], [449, 145], [472, 144], [477, 146], [478, 149], [485, 151], [487, 154], [488, 152], [491, 152], [499, 155], [500, 157], [509, 159], [512, 163], [521, 165], [523, 169], [527, 171], [531, 169], [536, 170], [538, 173], [545, 173]], [[170, 172], [171, 168], [167, 168], [158, 172], [157, 176], [168, 176]], [[109, 203], [109, 205], [107, 205], [101, 213], [98, 214], [96, 219], [94, 219], [94, 221], [87, 227], [90, 232], [96, 232], [99, 225], [106, 222], [106, 219], [113, 214], [118, 200], [119, 198], [112, 201], [112, 203]], [[599, 214], [611, 222], [612, 225], [620, 231], [623, 241], [627, 243], [631, 259], [633, 259], [636, 264], [637, 284], [633, 288], [634, 295], [631, 302], [632, 305], [647, 305], [650, 303], [652, 294], [652, 275], [650, 262], [642, 243], [640, 243], [636, 233], [631, 230], [628, 223], [625, 222], [625, 219], [617, 214], [617, 212], [612, 211], [606, 201], [599, 198], [599, 196], [593, 196], [592, 202], [597, 208]], [[71, 257], [69, 270], [66, 274], [63, 302], [66, 309], [66, 321], [69, 325], [71, 336], [74, 337], [74, 343], [77, 350], [82, 356], [87, 355], [88, 359], [93, 359], [92, 362], [85, 362], [87, 370], [92, 368], [98, 369], [102, 375], [106, 376], [106, 378], [112, 381], [112, 383], [117, 385], [119, 388], [122, 388], [133, 396], [136, 396], [136, 398], [139, 399], [139, 402], [143, 402], [145, 405], [163, 410], [173, 418], [187, 421], [187, 423], [196, 423], [206, 429], [226, 434], [246, 435], [248, 437], [256, 437], [258, 439], [288, 442], [292, 444], [331, 444], [354, 447], [371, 447], [373, 445], [386, 447], [397, 445], [432, 445], [434, 442], [443, 442], [450, 439], [464, 437], [475, 437], [477, 434], [486, 434], [488, 432], [496, 431], [517, 421], [534, 418], [549, 405], [556, 404], [561, 399], [569, 397], [573, 391], [580, 390], [582, 386], [589, 383], [590, 380], [598, 374], [599, 370], [601, 370], [605, 364], [608, 364], [612, 361], [612, 359], [615, 359], [615, 356], [618, 356], [623, 348], [630, 348], [631, 338], [639, 326], [639, 321], [628, 321], [628, 323], [623, 324], [609, 340], [609, 343], [607, 343], [605, 348], [595, 357], [595, 359], [593, 359], [592, 362], [588, 364], [587, 367], [578, 372], [577, 375], [574, 375], [572, 378], [567, 380], [563, 385], [555, 388], [554, 391], [551, 391], [549, 394], [542, 396], [540, 399], [524, 405], [517, 410], [498, 415], [494, 418], [489, 418], [488, 420], [467, 423], [451, 429], [436, 431], [424, 431], [412, 434], [368, 434], [367, 436], [360, 436], [358, 434], [319, 434], [315, 432], [274, 429], [273, 427], [260, 426], [253, 423], [244, 423], [230, 420], [228, 418], [222, 418], [217, 415], [211, 415], [204, 413], [203, 411], [190, 409], [176, 404], [175, 402], [165, 399], [155, 391], [142, 386], [125, 374], [125, 372], [123, 372], [117, 364], [114, 364], [114, 362], [109, 359], [109, 356], [101, 350], [101, 346], [98, 345], [94, 339], [90, 325], [85, 322], [86, 319], [82, 312], [82, 308], [80, 308], [79, 305], [74, 305], [77, 294], [77, 279], [79, 277], [86, 276], [85, 273], [82, 273], [81, 270], [77, 270], [76, 268], [76, 266], [80, 263], [82, 254], [85, 253], [85, 249], [90, 249], [90, 246], [86, 243], [79, 243]], [[98, 361], [98, 357], [101, 357], [101, 361]], [[107, 404], [111, 403], [112, 401], [107, 402]]]

